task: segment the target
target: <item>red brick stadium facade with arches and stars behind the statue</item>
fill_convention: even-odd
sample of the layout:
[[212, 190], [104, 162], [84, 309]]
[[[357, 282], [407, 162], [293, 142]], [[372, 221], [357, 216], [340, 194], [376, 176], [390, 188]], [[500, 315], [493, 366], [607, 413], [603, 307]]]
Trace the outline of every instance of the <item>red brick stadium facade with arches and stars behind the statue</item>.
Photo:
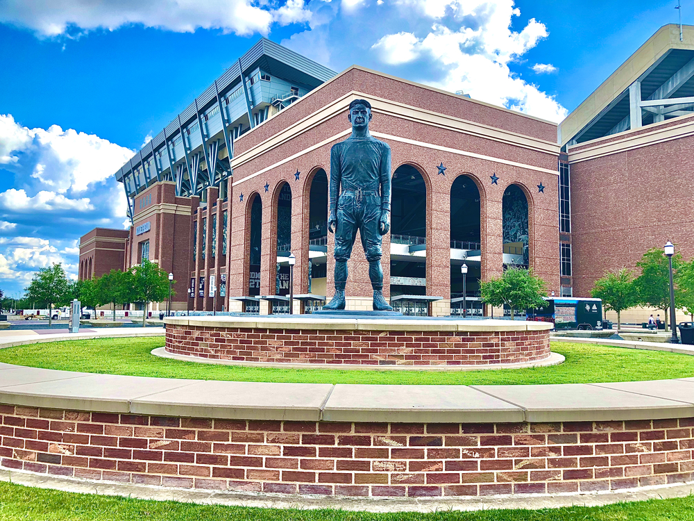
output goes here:
[[[174, 309], [285, 313], [286, 299], [273, 297], [289, 292], [285, 257], [291, 249], [294, 295], [301, 295], [294, 312], [309, 311], [307, 301], [316, 306], [330, 298], [333, 236], [317, 235], [327, 217], [316, 217], [316, 205], [327, 201], [314, 192], [316, 183], [329, 179], [330, 147], [348, 135], [346, 109], [357, 98], [371, 101], [371, 131], [392, 150], [393, 226], [383, 238], [382, 260], [386, 297], [428, 297], [428, 314], [448, 315], [461, 306], [463, 262], [470, 268], [468, 296], [478, 295], [479, 281], [521, 263], [556, 297], [589, 297], [605, 271], [635, 268], [644, 251], [668, 240], [688, 260], [694, 256], [687, 199], [694, 27], [684, 26], [684, 41], [679, 29], [659, 29], [559, 126], [350, 67], [235, 135], [232, 157], [224, 156], [225, 175], [232, 176], [204, 188], [202, 197], [174, 197], [172, 180], [138, 188], [127, 251], [119, 246], [92, 258], [94, 233], [85, 235], [80, 276], [136, 264], [149, 241], [151, 259], [176, 277]], [[140, 151], [130, 168], [149, 160]], [[175, 163], [182, 167], [180, 157]], [[201, 175], [206, 169], [201, 163]], [[400, 201], [405, 213], [412, 210], [405, 231], [396, 230], [403, 217], [396, 210], [396, 179], [412, 179], [422, 203], [415, 210], [412, 193]], [[462, 187], [467, 199], [457, 199]], [[522, 193], [527, 205], [516, 238], [505, 233], [504, 201], [511, 192]], [[289, 212], [289, 226], [278, 224], [282, 212]], [[457, 238], [458, 229], [464, 238]], [[349, 269], [348, 308], [368, 308], [371, 288], [359, 247]], [[473, 304], [478, 314], [491, 314], [478, 300]]]

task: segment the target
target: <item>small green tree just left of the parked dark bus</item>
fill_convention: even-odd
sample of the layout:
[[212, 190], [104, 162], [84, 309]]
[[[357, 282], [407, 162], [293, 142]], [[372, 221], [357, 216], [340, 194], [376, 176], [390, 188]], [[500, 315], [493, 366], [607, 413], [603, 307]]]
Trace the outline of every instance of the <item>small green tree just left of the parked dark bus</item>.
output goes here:
[[516, 309], [541, 308], [542, 297], [547, 296], [545, 281], [533, 274], [532, 269], [509, 267], [502, 276], [480, 282], [482, 300], [491, 306], [506, 304], [511, 308], [511, 320]]

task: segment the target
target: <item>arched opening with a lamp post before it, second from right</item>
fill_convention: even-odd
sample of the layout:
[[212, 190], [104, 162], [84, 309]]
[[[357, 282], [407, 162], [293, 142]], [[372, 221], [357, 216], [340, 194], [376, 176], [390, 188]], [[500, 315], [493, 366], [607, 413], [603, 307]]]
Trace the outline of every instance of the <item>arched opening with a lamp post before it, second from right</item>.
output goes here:
[[[480, 189], [471, 177], [458, 176], [450, 187], [451, 315], [482, 316], [480, 215]], [[461, 270], [463, 264], [467, 268], [466, 274]]]

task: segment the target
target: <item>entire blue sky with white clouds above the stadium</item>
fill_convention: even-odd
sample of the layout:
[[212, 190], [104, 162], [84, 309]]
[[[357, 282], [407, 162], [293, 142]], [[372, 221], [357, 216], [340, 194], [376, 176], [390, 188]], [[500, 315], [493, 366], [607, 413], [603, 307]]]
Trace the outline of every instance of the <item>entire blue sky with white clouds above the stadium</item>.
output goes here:
[[[115, 3], [114, 3], [115, 4]], [[694, 3], [683, 6], [694, 23]], [[122, 227], [112, 173], [260, 37], [559, 121], [675, 3], [0, 0], [0, 289]]]

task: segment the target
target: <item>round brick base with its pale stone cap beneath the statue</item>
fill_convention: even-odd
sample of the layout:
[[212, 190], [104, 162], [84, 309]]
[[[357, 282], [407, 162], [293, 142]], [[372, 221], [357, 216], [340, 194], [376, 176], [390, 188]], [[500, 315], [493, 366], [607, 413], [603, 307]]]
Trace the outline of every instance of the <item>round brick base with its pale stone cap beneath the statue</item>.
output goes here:
[[516, 364], [550, 356], [550, 326], [541, 322], [441, 320], [435, 330], [423, 329], [428, 322], [175, 318], [167, 319], [166, 350], [241, 362], [356, 365]]

